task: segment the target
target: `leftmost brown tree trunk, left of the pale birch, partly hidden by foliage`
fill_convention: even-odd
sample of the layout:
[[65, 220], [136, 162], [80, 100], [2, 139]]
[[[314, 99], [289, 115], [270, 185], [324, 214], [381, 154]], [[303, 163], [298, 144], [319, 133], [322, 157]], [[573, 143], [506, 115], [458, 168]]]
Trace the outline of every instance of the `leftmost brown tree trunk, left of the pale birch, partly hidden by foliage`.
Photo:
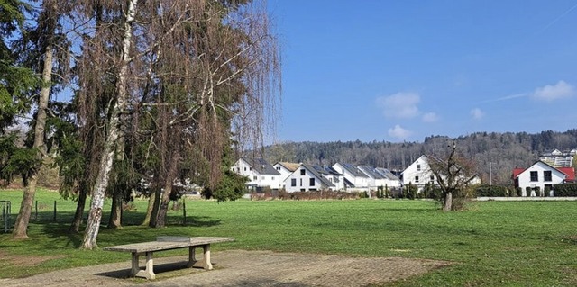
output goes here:
[[[44, 157], [43, 153], [45, 152], [44, 129], [46, 129], [46, 110], [48, 109], [48, 101], [50, 99], [50, 82], [52, 79], [52, 53], [52, 45], [48, 45], [44, 52], [42, 87], [40, 90], [40, 98], [38, 100], [36, 125], [34, 126], [34, 143], [32, 144], [32, 148], [38, 149], [38, 157]], [[16, 217], [16, 221], [14, 222], [14, 238], [28, 238], [26, 229], [28, 229], [28, 223], [30, 222], [30, 214], [32, 212], [32, 203], [34, 202], [34, 194], [36, 193], [37, 182], [38, 175], [34, 173], [26, 186], [24, 186], [24, 194], [20, 204], [20, 211], [18, 212], [18, 217]]]

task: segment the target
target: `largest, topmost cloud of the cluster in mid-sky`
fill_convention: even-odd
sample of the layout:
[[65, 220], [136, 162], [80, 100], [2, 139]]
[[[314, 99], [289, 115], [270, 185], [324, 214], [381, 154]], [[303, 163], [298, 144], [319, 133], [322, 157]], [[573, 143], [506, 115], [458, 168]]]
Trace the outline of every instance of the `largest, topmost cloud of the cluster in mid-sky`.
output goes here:
[[421, 97], [415, 93], [397, 93], [377, 98], [377, 105], [389, 118], [410, 119], [419, 114], [417, 104]]

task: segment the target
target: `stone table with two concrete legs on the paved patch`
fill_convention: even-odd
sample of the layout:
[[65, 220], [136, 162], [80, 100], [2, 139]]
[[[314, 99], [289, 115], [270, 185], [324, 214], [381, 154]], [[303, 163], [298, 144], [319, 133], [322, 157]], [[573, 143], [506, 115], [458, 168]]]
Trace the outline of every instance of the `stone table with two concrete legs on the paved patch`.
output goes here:
[[[211, 237], [157, 237], [156, 241], [141, 242], [133, 244], [119, 245], [115, 247], [104, 247], [107, 251], [120, 251], [120, 252], [130, 252], [132, 253], [132, 268], [131, 276], [143, 277], [146, 279], [154, 279], [156, 275], [154, 274], [154, 263], [152, 260], [152, 254], [155, 251], [164, 251], [178, 248], [188, 247], [188, 267], [201, 267], [206, 270], [213, 269], [213, 265], [210, 262], [210, 244], [217, 242], [227, 242], [234, 241], [234, 238], [211, 238]], [[197, 260], [195, 252], [197, 247], [202, 247], [203, 256], [202, 259]], [[142, 270], [139, 265], [139, 257], [146, 256], [145, 269]]]

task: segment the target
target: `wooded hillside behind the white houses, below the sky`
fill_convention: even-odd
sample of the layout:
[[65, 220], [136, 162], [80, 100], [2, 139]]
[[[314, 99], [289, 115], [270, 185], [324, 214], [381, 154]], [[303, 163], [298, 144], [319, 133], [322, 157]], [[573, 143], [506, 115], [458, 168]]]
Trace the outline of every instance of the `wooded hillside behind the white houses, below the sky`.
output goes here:
[[[402, 171], [421, 155], [443, 154], [448, 142], [445, 136], [426, 137], [423, 142], [391, 143], [387, 141], [284, 142], [264, 148], [265, 158], [278, 161], [333, 165], [346, 162]], [[477, 163], [483, 182], [489, 181], [491, 166], [493, 184], [512, 184], [515, 167], [528, 167], [546, 150], [577, 148], [577, 129], [557, 132], [477, 132], [456, 139], [463, 157]], [[491, 164], [490, 164], [491, 163]]]

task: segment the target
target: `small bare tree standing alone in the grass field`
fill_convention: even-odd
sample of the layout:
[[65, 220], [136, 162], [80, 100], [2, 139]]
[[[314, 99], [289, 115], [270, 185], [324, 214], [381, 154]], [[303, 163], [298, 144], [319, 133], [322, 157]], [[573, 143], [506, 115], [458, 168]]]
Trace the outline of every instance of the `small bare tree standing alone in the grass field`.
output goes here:
[[429, 168], [442, 191], [443, 211], [463, 209], [463, 203], [472, 194], [469, 186], [477, 176], [474, 164], [459, 157], [456, 151], [457, 145], [453, 141], [445, 157], [428, 157]]

